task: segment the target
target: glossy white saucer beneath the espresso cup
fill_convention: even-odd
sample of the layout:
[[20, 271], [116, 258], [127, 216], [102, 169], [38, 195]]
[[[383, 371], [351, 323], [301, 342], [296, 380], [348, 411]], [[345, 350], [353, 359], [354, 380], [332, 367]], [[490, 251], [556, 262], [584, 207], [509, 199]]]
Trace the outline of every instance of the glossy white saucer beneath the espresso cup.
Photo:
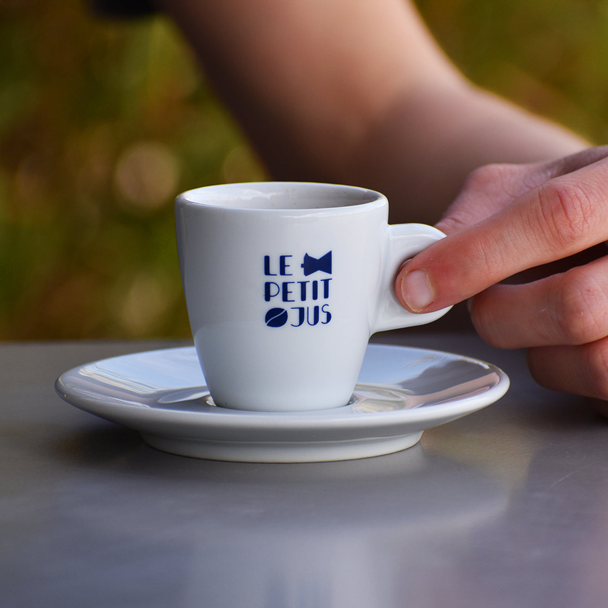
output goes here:
[[128, 354], [66, 371], [68, 403], [136, 429], [173, 454], [244, 462], [350, 460], [413, 446], [424, 429], [497, 401], [506, 374], [477, 359], [371, 344], [350, 404], [313, 412], [216, 407], [193, 347]]

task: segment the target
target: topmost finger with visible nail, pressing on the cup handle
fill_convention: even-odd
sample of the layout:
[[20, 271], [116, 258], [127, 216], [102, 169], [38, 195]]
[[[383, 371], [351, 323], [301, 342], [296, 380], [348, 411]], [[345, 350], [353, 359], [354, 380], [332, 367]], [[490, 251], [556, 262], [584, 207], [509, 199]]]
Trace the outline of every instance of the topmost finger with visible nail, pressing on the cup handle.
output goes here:
[[494, 283], [608, 238], [608, 161], [533, 188], [402, 266], [396, 294], [414, 313], [465, 300]]

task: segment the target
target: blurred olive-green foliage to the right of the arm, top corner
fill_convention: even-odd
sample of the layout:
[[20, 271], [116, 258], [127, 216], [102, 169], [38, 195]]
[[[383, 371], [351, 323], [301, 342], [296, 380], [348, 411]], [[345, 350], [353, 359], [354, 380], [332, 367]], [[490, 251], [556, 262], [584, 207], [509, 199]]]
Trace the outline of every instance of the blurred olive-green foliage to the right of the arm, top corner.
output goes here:
[[608, 141], [605, 0], [418, 0], [449, 57], [475, 83]]

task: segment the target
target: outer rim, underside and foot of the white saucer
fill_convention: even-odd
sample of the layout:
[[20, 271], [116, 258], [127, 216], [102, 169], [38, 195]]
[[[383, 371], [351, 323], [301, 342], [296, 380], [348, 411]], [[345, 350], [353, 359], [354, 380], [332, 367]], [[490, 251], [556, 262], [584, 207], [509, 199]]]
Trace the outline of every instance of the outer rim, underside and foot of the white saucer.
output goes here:
[[[496, 402], [506, 393], [510, 385], [508, 376], [496, 365], [468, 356], [388, 344], [370, 344], [368, 349], [371, 350], [372, 356], [382, 356], [386, 350], [398, 350], [404, 354], [407, 351], [410, 356], [414, 353], [442, 358], [449, 356], [494, 371], [497, 374], [497, 381], [485, 392], [465, 396], [457, 401], [387, 412], [356, 412], [352, 406], [306, 412], [251, 412], [205, 406], [206, 409], [192, 411], [175, 407], [165, 408], [158, 402], [151, 407], [145, 404], [145, 399], [136, 402], [110, 397], [99, 390], [96, 393], [91, 392], [90, 388], [88, 394], [84, 395], [83, 393], [86, 391], [80, 390], [81, 387], [78, 386], [78, 373], [81, 370], [93, 365], [103, 365], [106, 361], [163, 357], [169, 356], [169, 354], [187, 354], [196, 357], [194, 347], [176, 347], [123, 354], [79, 365], [59, 376], [55, 382], [55, 389], [58, 395], [72, 406], [137, 430], [147, 443], [164, 449], [164, 451], [217, 460], [283, 462], [347, 460], [390, 453], [396, 449], [382, 451], [388, 448], [380, 445], [385, 443], [388, 446], [390, 438], [395, 440], [401, 438], [403, 446], [398, 449], [405, 449], [415, 444], [424, 430], [477, 412]], [[193, 387], [186, 388], [196, 386], [195, 384]], [[184, 387], [167, 388], [179, 390]], [[152, 402], [153, 399], [148, 399], [148, 401]], [[159, 433], [159, 428], [165, 429], [166, 432]], [[154, 437], [161, 437], [161, 440], [158, 441]], [[406, 440], [406, 437], [409, 439]], [[198, 448], [201, 447], [201, 444], [207, 444], [210, 450], [201, 452], [200, 449], [188, 449], [188, 447], [185, 450], [177, 449], [180, 447], [178, 444], [192, 442], [198, 444], [196, 446]], [[249, 449], [252, 446], [247, 448], [246, 443], [253, 443], [257, 447], [254, 446], [252, 451]], [[280, 452], [285, 452], [280, 448], [281, 444], [294, 445], [295, 443], [306, 443], [311, 449], [304, 451], [306, 454], [303, 459], [297, 454], [292, 454], [293, 459], [285, 460], [285, 454], [280, 454]], [[360, 444], [359, 451], [353, 451], [353, 443]], [[313, 444], [315, 444], [314, 448]], [[275, 454], [269, 455], [269, 452], [273, 451], [273, 445]], [[221, 449], [219, 449], [220, 447]], [[230, 457], [232, 452], [234, 452], [233, 457]], [[202, 453], [207, 455], [199, 455]], [[353, 456], [353, 453], [359, 455]], [[317, 454], [317, 457], [313, 458], [314, 454]], [[275, 460], [274, 458], [280, 459]]]

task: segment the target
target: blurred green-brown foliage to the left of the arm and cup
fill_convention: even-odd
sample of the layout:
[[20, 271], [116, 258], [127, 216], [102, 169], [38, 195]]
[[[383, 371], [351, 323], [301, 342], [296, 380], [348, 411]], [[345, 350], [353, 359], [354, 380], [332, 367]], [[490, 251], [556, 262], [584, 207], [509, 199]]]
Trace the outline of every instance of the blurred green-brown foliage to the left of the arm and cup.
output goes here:
[[173, 199], [263, 178], [162, 18], [0, 3], [0, 338], [188, 336]]

